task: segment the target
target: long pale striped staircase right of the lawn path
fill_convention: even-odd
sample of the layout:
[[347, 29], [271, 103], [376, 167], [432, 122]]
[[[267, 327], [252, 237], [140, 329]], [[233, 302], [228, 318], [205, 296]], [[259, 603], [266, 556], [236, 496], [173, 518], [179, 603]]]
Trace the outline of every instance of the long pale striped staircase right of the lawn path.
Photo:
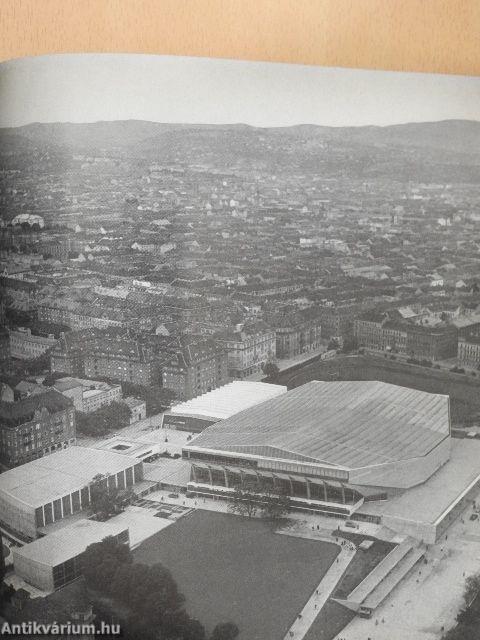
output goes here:
[[424, 553], [423, 545], [406, 538], [372, 569], [346, 599], [339, 599], [338, 602], [359, 615], [369, 617]]

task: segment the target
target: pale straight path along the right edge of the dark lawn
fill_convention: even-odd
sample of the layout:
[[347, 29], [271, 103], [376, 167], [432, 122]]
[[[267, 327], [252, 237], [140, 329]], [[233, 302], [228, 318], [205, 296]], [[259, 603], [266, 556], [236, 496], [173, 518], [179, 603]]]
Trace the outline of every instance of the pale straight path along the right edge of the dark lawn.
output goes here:
[[353, 545], [348, 544], [341, 547], [336, 560], [307, 600], [295, 622], [285, 634], [284, 640], [301, 640], [305, 636], [353, 560], [355, 553], [356, 549]]

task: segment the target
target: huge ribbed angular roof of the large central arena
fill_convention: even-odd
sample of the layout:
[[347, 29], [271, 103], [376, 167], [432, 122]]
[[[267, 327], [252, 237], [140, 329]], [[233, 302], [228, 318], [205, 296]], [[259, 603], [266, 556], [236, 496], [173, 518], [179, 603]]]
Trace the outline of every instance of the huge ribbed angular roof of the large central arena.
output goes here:
[[208, 427], [185, 449], [352, 469], [425, 456], [449, 434], [448, 396], [313, 381]]

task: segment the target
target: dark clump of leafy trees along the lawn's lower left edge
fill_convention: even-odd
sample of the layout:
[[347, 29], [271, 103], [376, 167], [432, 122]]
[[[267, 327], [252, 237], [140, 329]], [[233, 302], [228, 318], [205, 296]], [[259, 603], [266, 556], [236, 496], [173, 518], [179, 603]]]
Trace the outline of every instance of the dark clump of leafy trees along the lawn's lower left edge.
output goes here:
[[[82, 557], [87, 586], [123, 605], [127, 640], [207, 640], [203, 625], [189, 616], [185, 598], [170, 571], [161, 564], [135, 563], [128, 545], [105, 538], [87, 547]], [[235, 640], [233, 623], [215, 627], [210, 640]]]

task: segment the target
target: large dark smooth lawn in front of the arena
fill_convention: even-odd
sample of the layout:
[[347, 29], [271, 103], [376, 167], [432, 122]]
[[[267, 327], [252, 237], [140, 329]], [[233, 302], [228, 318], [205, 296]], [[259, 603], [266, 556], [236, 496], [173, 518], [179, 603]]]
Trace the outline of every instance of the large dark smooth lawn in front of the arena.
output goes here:
[[276, 534], [259, 519], [196, 511], [146, 540], [134, 556], [170, 569], [187, 611], [208, 631], [232, 621], [240, 640], [281, 640], [338, 551]]

